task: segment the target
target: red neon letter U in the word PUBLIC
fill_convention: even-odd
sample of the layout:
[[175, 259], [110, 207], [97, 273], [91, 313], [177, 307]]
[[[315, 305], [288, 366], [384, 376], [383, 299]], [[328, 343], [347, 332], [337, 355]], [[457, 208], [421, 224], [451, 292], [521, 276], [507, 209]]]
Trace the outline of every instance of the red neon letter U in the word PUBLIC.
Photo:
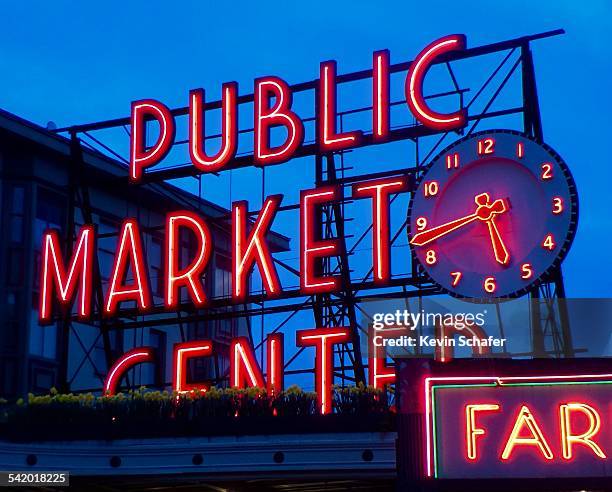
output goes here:
[[238, 142], [238, 114], [236, 111], [238, 84], [223, 84], [221, 111], [221, 148], [209, 157], [205, 151], [204, 121], [205, 93], [195, 89], [189, 93], [189, 155], [191, 162], [201, 171], [212, 172], [221, 169], [236, 155]]

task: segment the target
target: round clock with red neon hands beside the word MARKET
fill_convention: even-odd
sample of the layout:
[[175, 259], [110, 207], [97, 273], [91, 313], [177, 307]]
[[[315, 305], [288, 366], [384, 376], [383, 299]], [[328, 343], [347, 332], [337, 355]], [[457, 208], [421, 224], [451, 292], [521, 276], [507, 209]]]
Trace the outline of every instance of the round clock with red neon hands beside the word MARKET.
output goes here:
[[565, 257], [578, 197], [565, 162], [511, 130], [469, 135], [422, 174], [408, 239], [425, 273], [452, 295], [516, 297]]

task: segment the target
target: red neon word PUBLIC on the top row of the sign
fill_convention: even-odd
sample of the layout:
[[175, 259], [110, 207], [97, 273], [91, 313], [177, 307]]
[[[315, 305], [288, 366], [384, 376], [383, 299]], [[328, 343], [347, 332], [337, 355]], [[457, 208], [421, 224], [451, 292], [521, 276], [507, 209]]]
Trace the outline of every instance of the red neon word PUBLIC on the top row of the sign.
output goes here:
[[[423, 80], [434, 63], [444, 61], [449, 52], [465, 49], [465, 36], [450, 35], [425, 47], [410, 64], [405, 80], [405, 96], [414, 117], [424, 126], [441, 131], [465, 126], [467, 112], [439, 113], [431, 109], [423, 97]], [[336, 62], [320, 64], [315, 104], [317, 121], [316, 143], [320, 153], [345, 150], [362, 144], [366, 135], [361, 130], [339, 132], [336, 128]], [[377, 51], [372, 63], [372, 143], [384, 142], [390, 135], [390, 64], [389, 51]], [[219, 103], [206, 103], [205, 92], [194, 89], [189, 93], [189, 154], [192, 164], [203, 173], [218, 172], [231, 164], [238, 148], [238, 106], [250, 98], [238, 96], [238, 85], [227, 82], [221, 88]], [[255, 80], [253, 90], [253, 162], [264, 166], [288, 161], [296, 155], [304, 142], [304, 124], [292, 110], [292, 89], [275, 76]], [[207, 109], [222, 111], [220, 148], [215, 154], [205, 151], [204, 132]], [[149, 123], [157, 122], [157, 141], [147, 146]], [[139, 182], [145, 170], [159, 164], [174, 144], [176, 124], [172, 111], [154, 99], [132, 103], [131, 112], [130, 179]], [[272, 145], [273, 129], [282, 129], [285, 140]]]

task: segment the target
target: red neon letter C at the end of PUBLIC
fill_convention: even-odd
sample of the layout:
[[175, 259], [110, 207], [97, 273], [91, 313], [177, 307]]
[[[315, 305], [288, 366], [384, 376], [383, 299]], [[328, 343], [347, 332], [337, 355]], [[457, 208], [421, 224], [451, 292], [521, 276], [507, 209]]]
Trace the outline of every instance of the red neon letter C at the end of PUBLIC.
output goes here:
[[465, 125], [467, 111], [461, 109], [455, 113], [436, 113], [425, 102], [423, 97], [423, 79], [435, 58], [449, 51], [463, 50], [465, 36], [453, 34], [429, 44], [421, 51], [410, 65], [406, 77], [406, 101], [410, 111], [423, 125], [436, 130], [451, 130]]

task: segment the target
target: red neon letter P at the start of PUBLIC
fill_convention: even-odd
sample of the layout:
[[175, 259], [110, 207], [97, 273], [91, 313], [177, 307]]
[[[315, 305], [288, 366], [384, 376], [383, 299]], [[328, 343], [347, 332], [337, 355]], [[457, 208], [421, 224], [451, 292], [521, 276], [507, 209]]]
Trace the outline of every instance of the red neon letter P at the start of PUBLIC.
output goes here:
[[[159, 123], [157, 142], [147, 150], [147, 120]], [[174, 142], [174, 118], [168, 107], [153, 99], [132, 103], [132, 135], [130, 138], [130, 179], [140, 181], [143, 170], [160, 162]]]

